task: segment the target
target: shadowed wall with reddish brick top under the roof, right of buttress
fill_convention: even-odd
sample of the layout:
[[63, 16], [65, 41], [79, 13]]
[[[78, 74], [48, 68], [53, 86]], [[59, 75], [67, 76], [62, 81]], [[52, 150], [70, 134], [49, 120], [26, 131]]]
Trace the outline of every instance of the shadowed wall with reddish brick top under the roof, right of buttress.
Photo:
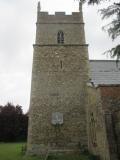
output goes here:
[[101, 85], [100, 91], [103, 110], [111, 115], [106, 122], [111, 156], [120, 157], [120, 85]]

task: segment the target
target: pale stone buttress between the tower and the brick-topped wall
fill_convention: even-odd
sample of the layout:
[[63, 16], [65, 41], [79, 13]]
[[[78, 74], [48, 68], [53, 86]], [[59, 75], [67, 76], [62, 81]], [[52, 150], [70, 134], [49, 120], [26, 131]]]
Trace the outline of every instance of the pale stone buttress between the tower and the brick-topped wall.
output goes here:
[[101, 160], [110, 160], [100, 88], [88, 87], [87, 124], [89, 151]]

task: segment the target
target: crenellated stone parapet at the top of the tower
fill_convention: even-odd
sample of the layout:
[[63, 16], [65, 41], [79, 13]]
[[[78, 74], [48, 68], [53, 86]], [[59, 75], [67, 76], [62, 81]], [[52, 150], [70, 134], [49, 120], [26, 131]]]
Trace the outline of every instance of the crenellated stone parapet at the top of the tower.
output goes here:
[[38, 12], [37, 23], [83, 23], [82, 12], [72, 12], [71, 15], [65, 12]]

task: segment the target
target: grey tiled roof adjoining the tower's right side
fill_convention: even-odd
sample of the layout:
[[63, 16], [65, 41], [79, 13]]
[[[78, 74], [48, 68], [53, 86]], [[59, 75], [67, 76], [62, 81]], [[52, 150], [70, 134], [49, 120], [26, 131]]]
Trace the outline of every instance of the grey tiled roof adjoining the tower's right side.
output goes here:
[[117, 85], [120, 84], [120, 62], [118, 67], [116, 61], [90, 60], [90, 79], [95, 85]]

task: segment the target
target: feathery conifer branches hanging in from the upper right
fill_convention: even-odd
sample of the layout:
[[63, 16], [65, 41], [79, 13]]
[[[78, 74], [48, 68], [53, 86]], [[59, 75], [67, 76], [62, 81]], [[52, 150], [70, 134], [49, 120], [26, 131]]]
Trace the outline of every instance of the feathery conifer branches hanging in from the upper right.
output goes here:
[[[81, 0], [82, 3], [88, 3], [89, 5], [100, 4], [104, 0]], [[106, 0], [111, 1], [111, 0]], [[104, 30], [107, 30], [109, 36], [112, 40], [115, 40], [120, 36], [120, 2], [113, 2], [112, 5], [107, 8], [103, 8], [100, 10], [102, 15], [102, 19], [111, 18], [111, 22], [103, 27]], [[114, 48], [106, 51], [106, 53], [110, 53], [111, 57], [116, 57], [117, 61], [120, 59], [120, 44], [115, 46]]]

